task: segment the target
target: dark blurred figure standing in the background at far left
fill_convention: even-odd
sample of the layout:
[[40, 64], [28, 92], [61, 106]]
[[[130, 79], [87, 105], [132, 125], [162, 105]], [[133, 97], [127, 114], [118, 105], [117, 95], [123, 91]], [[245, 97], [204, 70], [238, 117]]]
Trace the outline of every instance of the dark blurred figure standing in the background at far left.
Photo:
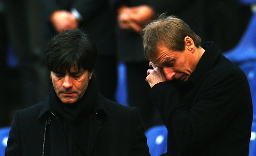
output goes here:
[[[40, 53], [41, 19], [38, 3], [34, 0], [4, 0], [6, 33], [9, 51], [17, 58], [18, 74], [10, 77], [11, 96], [7, 103], [13, 110], [28, 107], [43, 100], [49, 92], [50, 77]], [[8, 62], [6, 62], [8, 63]], [[11, 118], [11, 117], [9, 117]], [[9, 123], [10, 124], [10, 123]]]

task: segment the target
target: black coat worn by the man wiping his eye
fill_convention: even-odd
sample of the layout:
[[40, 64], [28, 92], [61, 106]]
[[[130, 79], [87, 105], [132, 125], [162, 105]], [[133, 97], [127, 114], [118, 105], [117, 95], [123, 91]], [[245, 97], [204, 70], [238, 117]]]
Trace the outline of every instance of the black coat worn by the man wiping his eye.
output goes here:
[[245, 74], [212, 42], [188, 82], [149, 91], [168, 129], [169, 156], [248, 156], [252, 102]]

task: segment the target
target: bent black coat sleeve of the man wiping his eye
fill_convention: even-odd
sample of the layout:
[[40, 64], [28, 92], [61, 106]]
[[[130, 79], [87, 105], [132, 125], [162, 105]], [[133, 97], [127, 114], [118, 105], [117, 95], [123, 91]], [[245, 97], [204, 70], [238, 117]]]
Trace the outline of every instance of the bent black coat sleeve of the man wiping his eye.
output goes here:
[[168, 135], [181, 151], [188, 152], [203, 148], [234, 118], [244, 103], [242, 82], [244, 78], [236, 71], [219, 74], [207, 82], [191, 108], [183, 103], [172, 81], [156, 84], [149, 98], [162, 116]]

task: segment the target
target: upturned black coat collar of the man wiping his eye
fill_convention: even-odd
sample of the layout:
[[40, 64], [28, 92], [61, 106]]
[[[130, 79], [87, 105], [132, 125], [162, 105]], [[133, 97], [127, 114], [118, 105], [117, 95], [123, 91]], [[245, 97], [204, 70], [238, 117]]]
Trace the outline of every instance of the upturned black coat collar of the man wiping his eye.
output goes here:
[[201, 47], [205, 52], [199, 60], [194, 72], [189, 77], [189, 80], [194, 84], [197, 84], [201, 77], [214, 67], [218, 57], [221, 55], [220, 49], [213, 42], [202, 43]]

